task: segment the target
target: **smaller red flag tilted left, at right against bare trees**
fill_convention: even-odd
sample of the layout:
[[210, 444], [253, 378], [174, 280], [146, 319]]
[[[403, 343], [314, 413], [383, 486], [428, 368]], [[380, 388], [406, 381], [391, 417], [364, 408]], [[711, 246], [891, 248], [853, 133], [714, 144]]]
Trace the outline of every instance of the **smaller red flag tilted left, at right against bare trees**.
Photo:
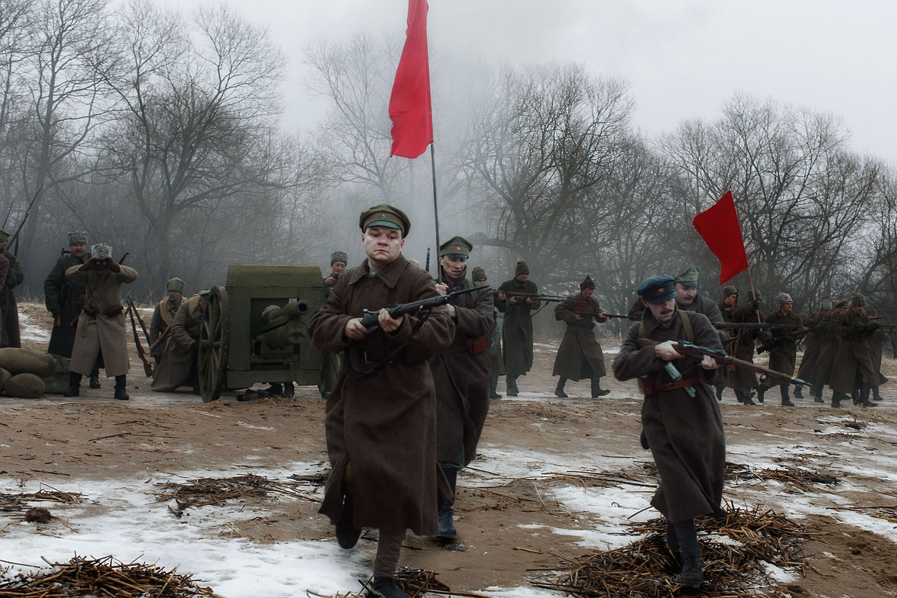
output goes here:
[[727, 191], [716, 204], [695, 216], [692, 224], [722, 264], [719, 284], [747, 269], [745, 239], [741, 236], [741, 225], [738, 223], [731, 191]]

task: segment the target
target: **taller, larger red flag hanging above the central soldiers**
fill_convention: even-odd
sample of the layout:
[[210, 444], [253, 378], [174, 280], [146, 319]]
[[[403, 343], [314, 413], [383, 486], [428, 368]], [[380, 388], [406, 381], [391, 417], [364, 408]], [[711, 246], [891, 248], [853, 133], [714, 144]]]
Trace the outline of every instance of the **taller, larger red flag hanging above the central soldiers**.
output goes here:
[[393, 121], [390, 156], [417, 158], [433, 143], [427, 10], [426, 0], [408, 0], [405, 48], [389, 98], [389, 118]]

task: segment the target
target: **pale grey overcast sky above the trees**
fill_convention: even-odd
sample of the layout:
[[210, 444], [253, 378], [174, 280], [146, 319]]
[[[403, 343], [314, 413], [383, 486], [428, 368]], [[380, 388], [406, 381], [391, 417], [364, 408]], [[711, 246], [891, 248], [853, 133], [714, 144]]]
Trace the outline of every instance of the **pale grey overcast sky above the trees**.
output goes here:
[[[196, 0], [156, 0], [182, 7]], [[358, 30], [405, 34], [407, 0], [228, 0], [266, 26], [291, 61], [288, 124], [310, 126], [301, 48]], [[718, 117], [736, 91], [843, 118], [856, 152], [897, 151], [893, 0], [430, 0], [431, 52], [492, 61], [576, 61], [621, 76], [649, 135]]]

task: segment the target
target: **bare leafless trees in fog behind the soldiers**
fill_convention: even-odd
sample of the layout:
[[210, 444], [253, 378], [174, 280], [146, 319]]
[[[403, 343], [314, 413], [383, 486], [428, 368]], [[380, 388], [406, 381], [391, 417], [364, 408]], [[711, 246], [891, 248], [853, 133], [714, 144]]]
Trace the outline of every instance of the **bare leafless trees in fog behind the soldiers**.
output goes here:
[[[388, 158], [388, 99], [401, 39], [310, 42], [304, 93], [327, 102], [311, 130], [284, 132], [286, 58], [224, 6], [182, 15], [132, 0], [0, 4], [0, 208], [21, 233], [27, 289], [69, 230], [87, 230], [141, 273], [135, 296], [178, 275], [223, 284], [227, 264], [361, 259], [357, 214], [407, 208], [405, 254], [433, 251], [431, 160]], [[588, 274], [625, 311], [655, 273], [718, 261], [692, 218], [736, 198], [754, 286], [807, 314], [855, 291], [891, 319], [897, 183], [858, 155], [837, 117], [736, 94], [711, 119], [650, 137], [626, 82], [576, 64], [491, 65], [431, 43], [442, 240], [477, 245], [492, 283], [518, 259], [541, 290]], [[750, 287], [747, 273], [732, 281]]]

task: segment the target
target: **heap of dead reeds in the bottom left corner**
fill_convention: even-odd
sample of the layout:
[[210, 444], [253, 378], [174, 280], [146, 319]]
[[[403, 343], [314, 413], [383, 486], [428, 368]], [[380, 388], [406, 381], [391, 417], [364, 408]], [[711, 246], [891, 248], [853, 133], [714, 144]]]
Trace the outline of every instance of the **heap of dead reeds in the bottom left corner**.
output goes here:
[[0, 598], [69, 598], [73, 596], [140, 596], [141, 598], [193, 598], [217, 596], [210, 588], [196, 585], [177, 568], [143, 563], [121, 563], [112, 557], [50, 563], [52, 571], [14, 577], [0, 575]]

